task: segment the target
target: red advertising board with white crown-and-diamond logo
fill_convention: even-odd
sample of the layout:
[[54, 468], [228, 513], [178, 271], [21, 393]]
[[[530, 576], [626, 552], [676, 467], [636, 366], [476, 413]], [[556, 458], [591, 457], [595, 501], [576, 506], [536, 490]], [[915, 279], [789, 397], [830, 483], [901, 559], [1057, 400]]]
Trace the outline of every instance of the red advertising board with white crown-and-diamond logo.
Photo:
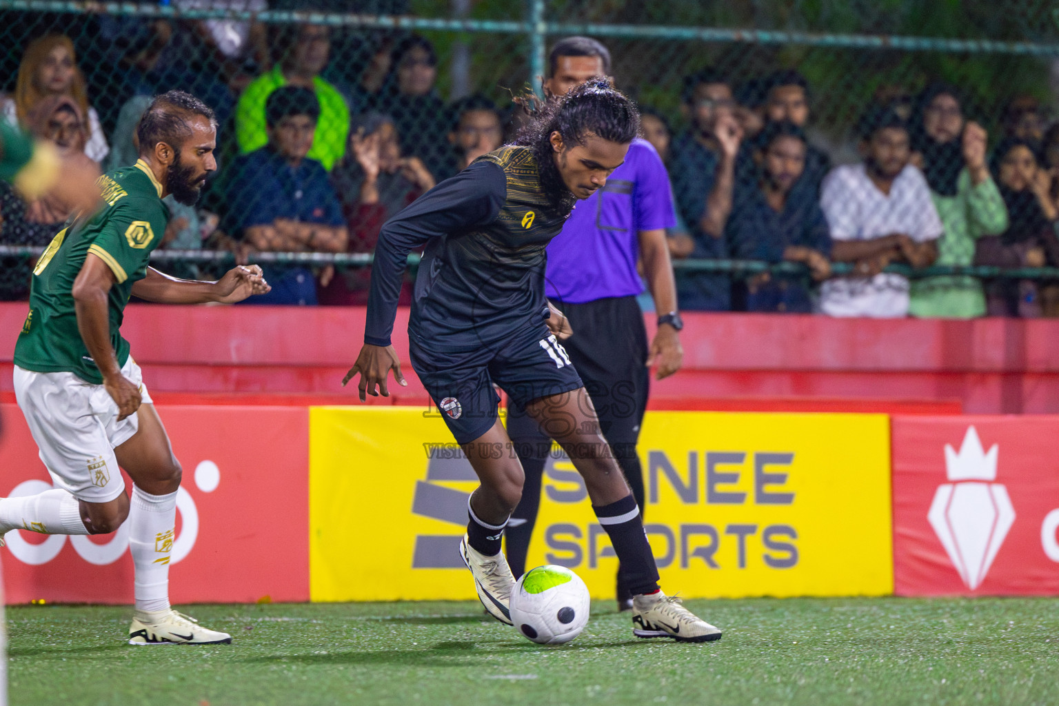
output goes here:
[[1059, 594], [1059, 417], [892, 429], [897, 595]]

